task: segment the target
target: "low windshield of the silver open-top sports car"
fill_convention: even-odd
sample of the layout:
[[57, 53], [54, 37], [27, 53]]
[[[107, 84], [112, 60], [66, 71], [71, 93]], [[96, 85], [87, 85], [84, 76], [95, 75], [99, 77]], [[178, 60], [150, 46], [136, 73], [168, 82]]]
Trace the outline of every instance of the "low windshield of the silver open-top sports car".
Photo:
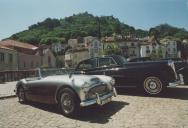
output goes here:
[[73, 73], [74, 69], [65, 69], [65, 68], [57, 68], [57, 69], [40, 69], [39, 74], [41, 77], [46, 76], [54, 76], [54, 75], [66, 75]]

